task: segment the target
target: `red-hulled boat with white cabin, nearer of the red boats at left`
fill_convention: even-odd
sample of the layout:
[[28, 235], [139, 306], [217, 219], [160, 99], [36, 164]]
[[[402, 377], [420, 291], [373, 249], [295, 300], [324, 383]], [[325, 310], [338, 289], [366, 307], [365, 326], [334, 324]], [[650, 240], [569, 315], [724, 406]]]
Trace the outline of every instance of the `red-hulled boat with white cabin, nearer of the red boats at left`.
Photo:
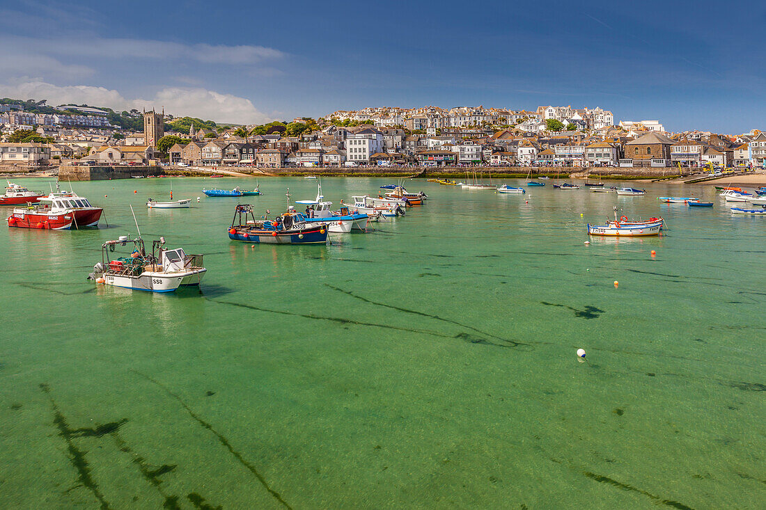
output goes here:
[[36, 205], [15, 208], [8, 217], [8, 227], [51, 230], [95, 227], [103, 212], [102, 208], [93, 207], [87, 198], [74, 191], [57, 191], [38, 198], [38, 201]]

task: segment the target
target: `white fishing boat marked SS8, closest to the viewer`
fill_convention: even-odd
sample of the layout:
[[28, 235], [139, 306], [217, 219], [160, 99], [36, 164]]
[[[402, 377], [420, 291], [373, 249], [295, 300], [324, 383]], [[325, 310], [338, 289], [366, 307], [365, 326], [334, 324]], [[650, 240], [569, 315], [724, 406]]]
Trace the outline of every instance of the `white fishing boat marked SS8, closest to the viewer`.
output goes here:
[[[116, 247], [133, 244], [128, 257], [110, 260]], [[152, 253], [146, 253], [141, 236], [129, 239], [120, 236], [102, 245], [102, 260], [93, 266], [89, 280], [103, 285], [152, 293], [172, 293], [180, 286], [198, 286], [205, 276], [201, 255], [188, 255], [182, 248], [165, 249], [165, 238], [152, 243]]]

